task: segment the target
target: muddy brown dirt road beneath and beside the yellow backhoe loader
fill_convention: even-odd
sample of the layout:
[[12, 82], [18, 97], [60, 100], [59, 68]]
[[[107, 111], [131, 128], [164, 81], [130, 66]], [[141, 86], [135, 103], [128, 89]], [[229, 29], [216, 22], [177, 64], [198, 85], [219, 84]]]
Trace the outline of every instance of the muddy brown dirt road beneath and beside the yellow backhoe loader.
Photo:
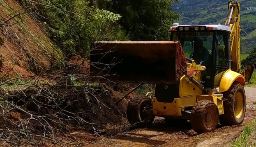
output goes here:
[[246, 87], [247, 113], [241, 126], [218, 126], [210, 133], [198, 135], [189, 123], [179, 126], [166, 126], [162, 118], [155, 119], [151, 129], [136, 129], [122, 133], [101, 146], [111, 147], [224, 147], [242, 131], [244, 124], [256, 116], [256, 88]]

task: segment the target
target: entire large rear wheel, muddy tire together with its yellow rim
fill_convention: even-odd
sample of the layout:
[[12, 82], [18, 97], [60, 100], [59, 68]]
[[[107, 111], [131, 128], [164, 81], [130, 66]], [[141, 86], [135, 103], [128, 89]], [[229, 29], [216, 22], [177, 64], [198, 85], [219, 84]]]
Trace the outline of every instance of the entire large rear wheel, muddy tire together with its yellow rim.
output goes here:
[[223, 97], [227, 100], [223, 102], [224, 114], [219, 116], [220, 124], [226, 126], [241, 124], [246, 112], [244, 86], [235, 81], [229, 90], [223, 93]]

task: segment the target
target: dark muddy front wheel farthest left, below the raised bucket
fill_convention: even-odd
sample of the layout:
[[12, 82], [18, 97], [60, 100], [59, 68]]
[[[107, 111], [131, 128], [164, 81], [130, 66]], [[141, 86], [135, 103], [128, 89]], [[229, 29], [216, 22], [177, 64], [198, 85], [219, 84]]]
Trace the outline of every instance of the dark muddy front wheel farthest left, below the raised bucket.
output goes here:
[[127, 106], [127, 119], [131, 125], [148, 127], [155, 120], [154, 115], [149, 115], [145, 109], [152, 109], [152, 100], [146, 96], [134, 97]]

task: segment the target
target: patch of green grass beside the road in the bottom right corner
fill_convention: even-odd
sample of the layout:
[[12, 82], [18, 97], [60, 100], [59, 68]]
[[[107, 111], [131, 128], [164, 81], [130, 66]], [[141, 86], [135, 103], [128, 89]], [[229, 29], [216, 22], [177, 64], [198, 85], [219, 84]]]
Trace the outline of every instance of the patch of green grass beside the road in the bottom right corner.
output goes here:
[[233, 140], [231, 147], [255, 147], [256, 145], [256, 120], [246, 124], [244, 130]]

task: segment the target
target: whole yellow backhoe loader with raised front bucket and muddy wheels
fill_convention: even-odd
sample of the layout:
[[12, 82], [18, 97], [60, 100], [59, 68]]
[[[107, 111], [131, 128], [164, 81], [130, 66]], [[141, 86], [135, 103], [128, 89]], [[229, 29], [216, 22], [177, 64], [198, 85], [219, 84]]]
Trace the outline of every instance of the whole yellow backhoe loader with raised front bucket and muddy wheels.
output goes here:
[[228, 11], [225, 25], [174, 24], [170, 41], [92, 43], [91, 80], [155, 84], [152, 99], [145, 95], [129, 102], [130, 124], [150, 125], [156, 116], [189, 120], [198, 133], [216, 129], [218, 122], [241, 124], [244, 85], [254, 65], [240, 70], [239, 2], [230, 0]]

